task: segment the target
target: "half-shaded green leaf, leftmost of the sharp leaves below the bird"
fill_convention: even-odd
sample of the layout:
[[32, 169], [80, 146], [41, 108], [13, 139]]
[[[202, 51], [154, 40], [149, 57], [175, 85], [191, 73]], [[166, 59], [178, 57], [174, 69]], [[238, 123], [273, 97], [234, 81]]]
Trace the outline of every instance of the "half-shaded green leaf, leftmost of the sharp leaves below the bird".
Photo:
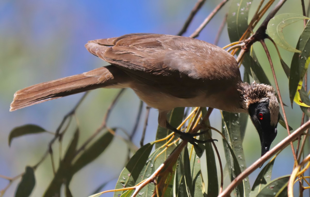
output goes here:
[[[115, 189], [124, 187], [135, 186], [137, 179], [144, 165], [147, 163], [148, 156], [150, 155], [154, 143], [147, 143], [131, 157], [126, 167], [122, 170]], [[114, 192], [114, 196], [117, 197], [122, 194], [123, 191]]]

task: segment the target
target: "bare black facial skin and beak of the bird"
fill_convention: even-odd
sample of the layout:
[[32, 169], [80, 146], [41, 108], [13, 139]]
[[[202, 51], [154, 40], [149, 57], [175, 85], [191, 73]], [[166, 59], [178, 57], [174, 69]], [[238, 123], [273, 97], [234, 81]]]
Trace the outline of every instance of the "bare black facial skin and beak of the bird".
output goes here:
[[[269, 151], [272, 141], [277, 136], [277, 125], [270, 124], [270, 111], [268, 108], [269, 101], [254, 103], [249, 106], [249, 114], [254, 126], [257, 129], [262, 147], [262, 156]], [[260, 119], [259, 113], [263, 114]]]

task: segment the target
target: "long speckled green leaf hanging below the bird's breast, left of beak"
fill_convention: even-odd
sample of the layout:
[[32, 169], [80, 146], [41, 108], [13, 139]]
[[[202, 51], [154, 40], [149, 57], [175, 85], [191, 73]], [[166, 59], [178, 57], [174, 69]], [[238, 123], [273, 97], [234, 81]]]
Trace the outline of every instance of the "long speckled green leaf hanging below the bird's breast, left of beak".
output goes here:
[[[230, 169], [232, 181], [239, 175], [239, 173], [241, 173], [241, 171], [246, 169], [246, 161], [244, 159], [244, 152], [242, 148], [242, 140], [240, 134], [240, 125], [244, 123], [240, 122], [238, 113], [229, 113], [224, 111], [222, 113], [222, 133], [225, 135], [228, 143], [230, 143], [234, 155], [238, 155], [238, 157], [236, 158], [237, 162], [235, 162], [235, 159], [233, 158], [232, 154], [229, 153], [227, 146], [224, 146], [226, 161], [228, 163], [228, 169]], [[237, 172], [237, 168], [240, 169], [240, 172]], [[243, 192], [246, 196], [250, 194], [250, 183], [248, 182], [248, 180], [248, 177], [243, 179], [244, 188], [241, 189], [241, 184], [239, 184], [239, 186], [237, 187], [238, 189], [236, 188], [237, 195], [243, 196]]]

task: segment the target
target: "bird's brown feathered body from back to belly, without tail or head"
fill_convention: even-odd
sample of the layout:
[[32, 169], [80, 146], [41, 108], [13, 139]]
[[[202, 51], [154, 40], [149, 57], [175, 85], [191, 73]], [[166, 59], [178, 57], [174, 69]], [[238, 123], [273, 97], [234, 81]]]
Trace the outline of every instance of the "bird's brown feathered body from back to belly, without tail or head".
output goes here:
[[131, 76], [130, 88], [152, 107], [240, 110], [237, 62], [218, 46], [189, 37], [141, 33], [89, 41], [85, 46]]

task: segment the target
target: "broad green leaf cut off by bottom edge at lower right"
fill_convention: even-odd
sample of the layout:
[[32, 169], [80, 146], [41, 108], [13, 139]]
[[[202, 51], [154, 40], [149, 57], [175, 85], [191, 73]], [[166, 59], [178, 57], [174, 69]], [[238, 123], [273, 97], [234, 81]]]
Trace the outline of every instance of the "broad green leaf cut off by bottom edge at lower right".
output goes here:
[[278, 177], [269, 182], [256, 197], [287, 196], [287, 182], [290, 175]]

